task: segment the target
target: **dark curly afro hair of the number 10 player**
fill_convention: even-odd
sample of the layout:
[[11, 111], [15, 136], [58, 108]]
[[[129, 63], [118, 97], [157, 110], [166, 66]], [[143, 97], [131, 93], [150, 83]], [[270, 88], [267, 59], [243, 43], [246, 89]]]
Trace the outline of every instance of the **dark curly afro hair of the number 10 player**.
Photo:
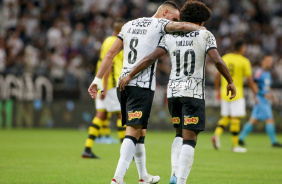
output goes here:
[[187, 1], [180, 10], [180, 20], [192, 23], [201, 23], [210, 19], [211, 9], [204, 3], [190, 0]]

